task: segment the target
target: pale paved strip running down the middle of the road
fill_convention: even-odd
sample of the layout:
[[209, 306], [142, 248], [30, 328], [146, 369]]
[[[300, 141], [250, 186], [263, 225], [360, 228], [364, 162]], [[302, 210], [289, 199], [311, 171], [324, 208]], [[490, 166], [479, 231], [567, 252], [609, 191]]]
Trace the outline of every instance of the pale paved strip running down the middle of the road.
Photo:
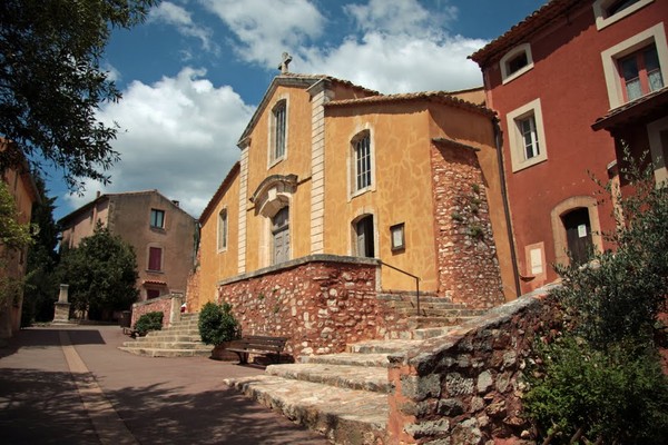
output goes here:
[[116, 413], [102, 388], [97, 384], [95, 376], [72, 346], [67, 330], [60, 330], [58, 334], [65, 359], [100, 443], [105, 445], [138, 445], [139, 443]]

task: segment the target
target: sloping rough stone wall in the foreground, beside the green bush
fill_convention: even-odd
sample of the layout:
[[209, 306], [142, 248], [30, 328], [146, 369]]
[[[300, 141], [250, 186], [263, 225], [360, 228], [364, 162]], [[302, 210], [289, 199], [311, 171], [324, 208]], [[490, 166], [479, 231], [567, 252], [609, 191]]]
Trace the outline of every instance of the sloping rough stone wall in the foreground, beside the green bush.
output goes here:
[[393, 443], [520, 444], [530, 438], [519, 417], [521, 382], [533, 335], [551, 326], [544, 295], [524, 296], [391, 357], [389, 433]]

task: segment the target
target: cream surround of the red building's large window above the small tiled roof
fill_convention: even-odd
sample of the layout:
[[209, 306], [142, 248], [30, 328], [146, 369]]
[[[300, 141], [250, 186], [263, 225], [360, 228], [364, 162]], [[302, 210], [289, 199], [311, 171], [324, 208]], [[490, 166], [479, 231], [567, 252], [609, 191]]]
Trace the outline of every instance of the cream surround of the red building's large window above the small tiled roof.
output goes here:
[[606, 87], [608, 89], [608, 99], [610, 109], [622, 106], [623, 88], [619, 76], [619, 59], [638, 51], [654, 43], [657, 48], [659, 65], [661, 67], [661, 76], [664, 83], [668, 82], [668, 43], [666, 42], [666, 31], [664, 22], [657, 23], [642, 32], [637, 33], [616, 46], [608, 48], [601, 52], [601, 61], [603, 63], [603, 73], [606, 76]]

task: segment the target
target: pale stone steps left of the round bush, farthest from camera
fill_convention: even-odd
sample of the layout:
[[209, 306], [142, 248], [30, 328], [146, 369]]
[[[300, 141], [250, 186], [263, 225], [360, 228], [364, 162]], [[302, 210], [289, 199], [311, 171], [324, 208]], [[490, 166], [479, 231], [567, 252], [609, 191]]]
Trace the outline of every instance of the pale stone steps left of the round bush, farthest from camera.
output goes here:
[[147, 357], [208, 357], [214, 347], [202, 342], [198, 320], [199, 314], [181, 314], [180, 322], [173, 323], [163, 330], [151, 330], [145, 337], [125, 342], [119, 349]]

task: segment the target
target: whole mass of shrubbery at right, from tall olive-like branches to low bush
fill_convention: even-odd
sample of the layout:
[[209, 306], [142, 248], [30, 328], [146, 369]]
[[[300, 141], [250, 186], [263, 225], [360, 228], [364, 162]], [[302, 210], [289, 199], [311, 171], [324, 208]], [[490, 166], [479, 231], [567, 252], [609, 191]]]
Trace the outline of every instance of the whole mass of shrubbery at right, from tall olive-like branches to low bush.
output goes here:
[[618, 229], [606, 235], [616, 251], [557, 268], [562, 334], [537, 347], [523, 400], [550, 444], [668, 443], [668, 378], [655, 344], [668, 296], [668, 188], [655, 186], [651, 169], [628, 165], [635, 194], [616, 197]]

